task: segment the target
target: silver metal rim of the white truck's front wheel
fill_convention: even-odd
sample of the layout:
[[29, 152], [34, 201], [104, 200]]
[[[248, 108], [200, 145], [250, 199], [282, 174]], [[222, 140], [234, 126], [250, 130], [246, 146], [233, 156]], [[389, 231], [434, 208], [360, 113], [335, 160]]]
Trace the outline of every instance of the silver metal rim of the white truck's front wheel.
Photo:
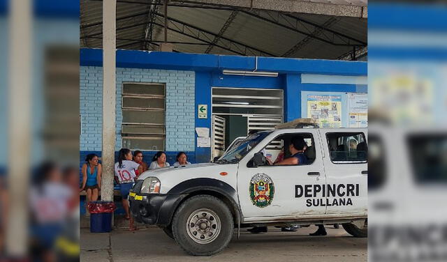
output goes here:
[[198, 209], [186, 220], [186, 232], [194, 242], [208, 244], [219, 236], [221, 219], [210, 209]]

